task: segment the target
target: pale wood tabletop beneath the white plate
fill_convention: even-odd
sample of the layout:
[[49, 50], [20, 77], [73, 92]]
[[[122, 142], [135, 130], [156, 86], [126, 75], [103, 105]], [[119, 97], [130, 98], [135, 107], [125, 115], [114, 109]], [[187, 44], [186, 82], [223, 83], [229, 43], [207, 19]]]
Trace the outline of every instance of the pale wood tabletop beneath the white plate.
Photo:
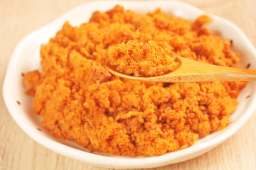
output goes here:
[[[256, 47], [255, 0], [183, 0], [238, 25]], [[26, 34], [82, 0], [1, 0], [0, 1], [0, 89], [11, 53]], [[158, 169], [256, 169], [256, 114], [229, 140], [195, 159]], [[99, 160], [100, 162], [100, 160]], [[63, 157], [34, 142], [16, 125], [6, 109], [0, 91], [0, 169], [89, 169], [100, 170]], [[154, 169], [156, 170], [156, 169]]]

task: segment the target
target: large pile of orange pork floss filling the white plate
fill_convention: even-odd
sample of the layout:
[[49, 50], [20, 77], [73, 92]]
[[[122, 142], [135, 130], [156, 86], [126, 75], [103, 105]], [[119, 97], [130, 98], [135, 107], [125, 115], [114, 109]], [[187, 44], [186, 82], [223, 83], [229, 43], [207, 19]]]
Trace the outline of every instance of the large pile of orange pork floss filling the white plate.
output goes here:
[[158, 156], [185, 149], [223, 130], [238, 105], [243, 82], [162, 84], [116, 77], [105, 69], [109, 50], [134, 40], [164, 43], [181, 57], [235, 67], [230, 41], [213, 36], [204, 23], [176, 18], [160, 8], [147, 14], [95, 11], [79, 27], [67, 22], [41, 47], [42, 72], [24, 75], [33, 110], [55, 137], [92, 152]]

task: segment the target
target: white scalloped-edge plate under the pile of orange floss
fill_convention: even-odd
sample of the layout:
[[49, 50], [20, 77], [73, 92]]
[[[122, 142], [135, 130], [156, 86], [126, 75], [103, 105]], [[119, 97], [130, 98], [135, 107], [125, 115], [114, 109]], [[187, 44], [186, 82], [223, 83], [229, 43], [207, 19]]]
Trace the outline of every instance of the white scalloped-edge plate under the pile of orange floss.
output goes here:
[[[27, 35], [18, 43], [14, 50], [4, 81], [4, 101], [16, 123], [33, 140], [59, 154], [79, 159], [87, 164], [115, 169], [151, 168], [183, 162], [208, 152], [208, 150], [219, 145], [237, 132], [255, 112], [255, 82], [250, 82], [245, 89], [242, 89], [238, 98], [238, 108], [230, 117], [232, 123], [225, 130], [214, 132], [187, 149], [171, 152], [159, 157], [131, 158], [92, 154], [87, 152], [86, 149], [75, 145], [73, 142], [56, 139], [43, 129], [41, 117], [33, 113], [32, 98], [23, 93], [25, 86], [22, 83], [21, 73], [40, 68], [39, 50], [41, 44], [47, 43], [55, 35], [57, 30], [62, 28], [65, 21], [70, 21], [73, 26], [79, 26], [81, 23], [88, 21], [93, 11], [107, 11], [116, 4], [120, 4], [125, 9], [131, 9], [138, 13], [154, 11], [157, 7], [161, 7], [167, 13], [174, 13], [176, 16], [190, 20], [195, 20], [198, 16], [205, 13], [198, 8], [178, 1], [94, 1], [74, 8], [47, 26]], [[208, 15], [210, 14], [208, 13]], [[255, 48], [245, 34], [242, 33], [242, 30], [223, 18], [213, 15], [210, 15], [210, 17], [213, 18], [213, 22], [208, 25], [208, 28], [213, 30], [213, 32], [219, 31], [224, 39], [233, 40], [235, 50], [242, 55], [241, 64], [245, 66], [250, 63], [250, 69], [256, 69]], [[250, 97], [247, 98], [249, 95]], [[17, 101], [21, 104], [19, 105]]]

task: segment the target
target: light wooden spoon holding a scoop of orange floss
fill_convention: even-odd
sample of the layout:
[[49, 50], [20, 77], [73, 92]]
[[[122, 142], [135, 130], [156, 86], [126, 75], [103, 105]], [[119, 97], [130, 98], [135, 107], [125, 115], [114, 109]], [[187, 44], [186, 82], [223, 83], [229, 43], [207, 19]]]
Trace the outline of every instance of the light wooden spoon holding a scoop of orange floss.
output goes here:
[[213, 64], [195, 62], [187, 58], [178, 57], [180, 66], [173, 72], [159, 77], [133, 77], [117, 72], [116, 67], [106, 62], [109, 72], [119, 77], [139, 81], [157, 82], [198, 82], [198, 81], [256, 81], [256, 70], [222, 67]]

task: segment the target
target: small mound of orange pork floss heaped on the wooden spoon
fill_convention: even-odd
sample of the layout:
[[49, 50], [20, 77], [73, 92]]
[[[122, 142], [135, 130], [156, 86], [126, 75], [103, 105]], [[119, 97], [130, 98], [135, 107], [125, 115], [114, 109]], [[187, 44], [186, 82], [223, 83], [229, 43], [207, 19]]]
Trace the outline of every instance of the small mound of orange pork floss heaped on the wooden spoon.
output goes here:
[[127, 42], [112, 45], [108, 49], [108, 62], [117, 67], [118, 72], [134, 77], [156, 77], [174, 71], [179, 62], [168, 42]]

